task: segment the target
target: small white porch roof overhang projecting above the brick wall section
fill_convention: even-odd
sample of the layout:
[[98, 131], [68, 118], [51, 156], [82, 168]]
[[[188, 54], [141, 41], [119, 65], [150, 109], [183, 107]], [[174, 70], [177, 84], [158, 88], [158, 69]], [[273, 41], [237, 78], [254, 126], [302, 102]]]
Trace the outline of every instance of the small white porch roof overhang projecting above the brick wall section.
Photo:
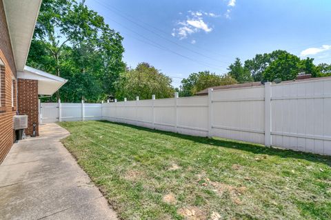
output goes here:
[[23, 71], [17, 72], [17, 79], [38, 80], [38, 94], [52, 95], [57, 92], [68, 80], [54, 76], [47, 72], [26, 66]]

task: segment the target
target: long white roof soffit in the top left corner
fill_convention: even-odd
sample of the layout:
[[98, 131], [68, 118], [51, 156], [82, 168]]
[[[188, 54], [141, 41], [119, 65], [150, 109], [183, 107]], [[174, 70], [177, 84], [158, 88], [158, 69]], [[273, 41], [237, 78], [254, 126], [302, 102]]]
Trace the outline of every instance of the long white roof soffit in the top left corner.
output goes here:
[[41, 0], [3, 0], [17, 71], [28, 58]]

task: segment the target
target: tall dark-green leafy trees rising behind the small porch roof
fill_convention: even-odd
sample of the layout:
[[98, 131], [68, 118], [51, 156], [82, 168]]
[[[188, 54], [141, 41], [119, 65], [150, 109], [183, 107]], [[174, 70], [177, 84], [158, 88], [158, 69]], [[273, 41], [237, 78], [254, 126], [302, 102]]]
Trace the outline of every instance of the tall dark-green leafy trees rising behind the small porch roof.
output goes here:
[[43, 0], [28, 65], [68, 79], [57, 97], [98, 101], [114, 95], [125, 70], [123, 38], [75, 0]]

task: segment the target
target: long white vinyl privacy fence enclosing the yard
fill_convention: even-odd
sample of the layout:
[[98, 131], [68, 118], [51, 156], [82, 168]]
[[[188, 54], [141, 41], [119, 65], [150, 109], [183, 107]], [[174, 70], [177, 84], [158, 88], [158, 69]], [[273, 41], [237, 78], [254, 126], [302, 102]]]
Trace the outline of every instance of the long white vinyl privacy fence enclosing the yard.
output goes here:
[[41, 103], [41, 116], [43, 123], [105, 119], [331, 155], [331, 79], [210, 89], [203, 97]]

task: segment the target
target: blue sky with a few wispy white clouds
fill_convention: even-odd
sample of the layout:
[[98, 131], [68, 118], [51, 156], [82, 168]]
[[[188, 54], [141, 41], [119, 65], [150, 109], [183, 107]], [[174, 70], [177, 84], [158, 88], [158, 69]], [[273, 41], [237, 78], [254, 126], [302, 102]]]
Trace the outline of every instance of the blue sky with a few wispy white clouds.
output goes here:
[[124, 37], [128, 66], [148, 62], [173, 79], [224, 74], [239, 57], [288, 50], [331, 63], [330, 0], [86, 0]]

